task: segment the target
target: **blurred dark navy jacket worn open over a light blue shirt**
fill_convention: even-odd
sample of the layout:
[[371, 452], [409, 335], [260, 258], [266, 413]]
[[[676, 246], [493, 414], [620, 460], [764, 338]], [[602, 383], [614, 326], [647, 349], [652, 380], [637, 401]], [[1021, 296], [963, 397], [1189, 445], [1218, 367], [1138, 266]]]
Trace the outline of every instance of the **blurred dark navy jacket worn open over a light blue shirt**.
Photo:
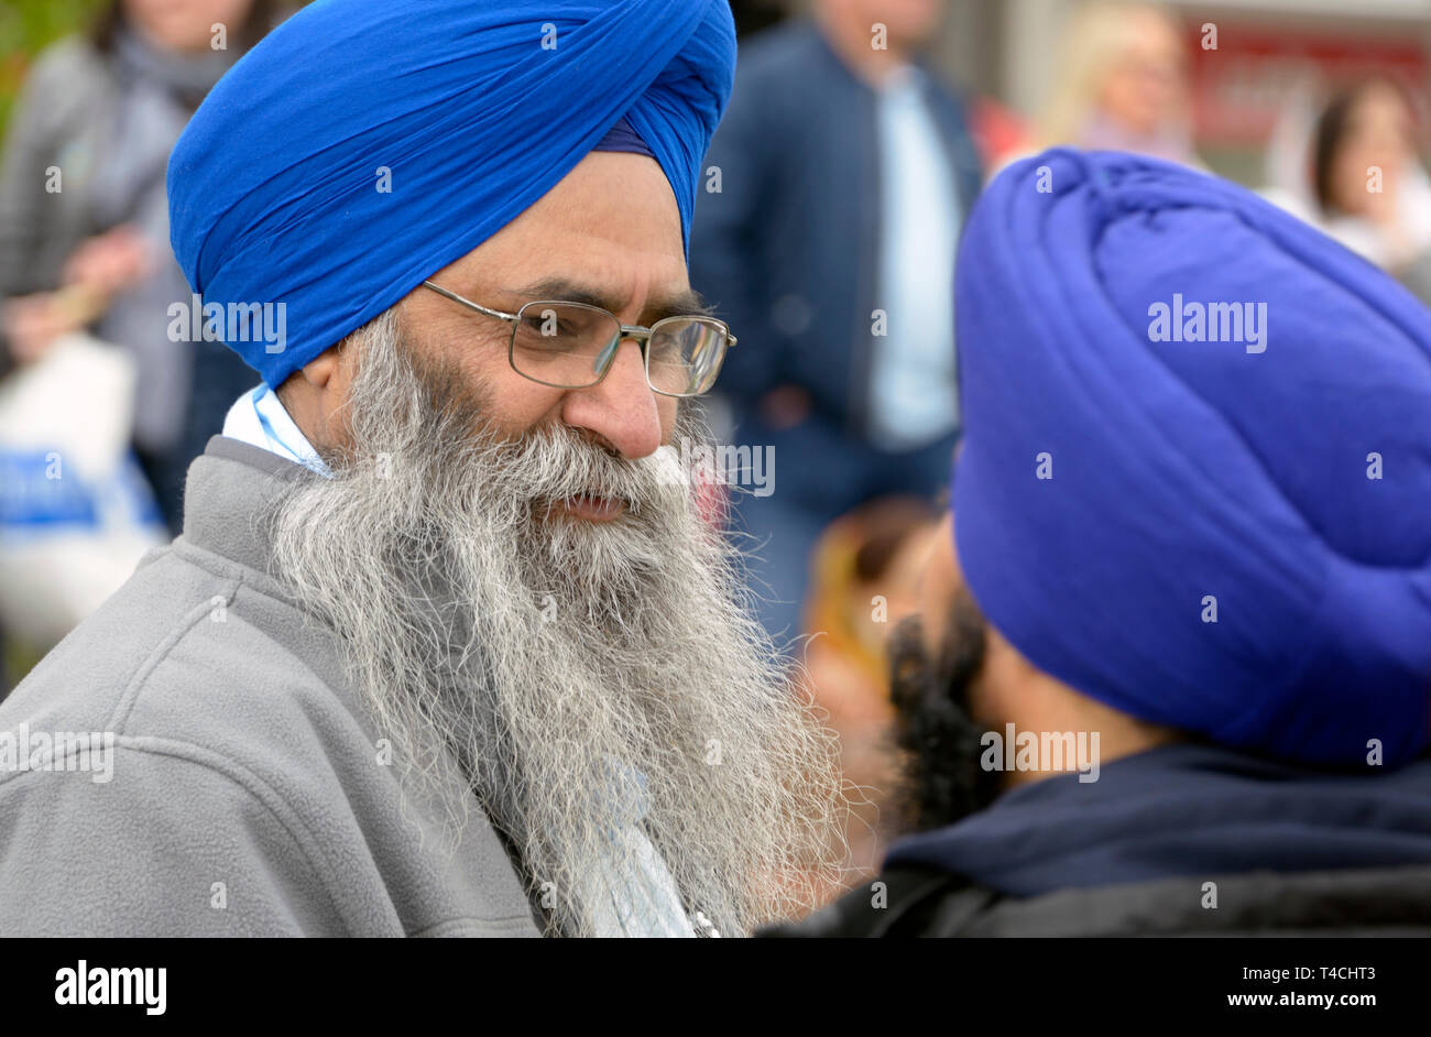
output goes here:
[[[963, 102], [924, 73], [963, 216], [979, 193], [979, 156]], [[691, 230], [691, 283], [740, 336], [718, 383], [738, 416], [793, 383], [811, 395], [816, 421], [866, 435], [881, 197], [876, 133], [874, 92], [813, 23], [741, 44]], [[710, 190], [713, 166], [718, 193]]]

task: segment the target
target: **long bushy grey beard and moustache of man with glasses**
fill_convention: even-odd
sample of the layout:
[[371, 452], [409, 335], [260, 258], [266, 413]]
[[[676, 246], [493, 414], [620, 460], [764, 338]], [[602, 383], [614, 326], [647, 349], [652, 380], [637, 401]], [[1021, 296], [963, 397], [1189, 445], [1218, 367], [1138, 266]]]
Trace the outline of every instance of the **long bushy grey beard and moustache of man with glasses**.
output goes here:
[[[638, 804], [685, 908], [723, 934], [810, 910], [843, 865], [834, 735], [674, 449], [633, 462], [562, 425], [504, 439], [391, 310], [349, 343], [351, 446], [270, 515], [275, 572], [341, 634], [409, 797], [442, 802], [454, 838], [479, 802], [551, 933], [592, 934], [631, 895], [612, 835]], [[581, 493], [627, 513], [550, 511]]]

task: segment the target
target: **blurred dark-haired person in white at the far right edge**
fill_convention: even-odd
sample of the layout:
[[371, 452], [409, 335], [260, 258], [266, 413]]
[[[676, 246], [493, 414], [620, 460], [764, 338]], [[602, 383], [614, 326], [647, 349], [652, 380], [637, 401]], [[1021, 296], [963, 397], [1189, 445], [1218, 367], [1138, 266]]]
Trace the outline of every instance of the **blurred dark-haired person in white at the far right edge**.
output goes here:
[[1431, 180], [1405, 87], [1369, 76], [1334, 90], [1309, 124], [1295, 112], [1274, 134], [1266, 196], [1431, 300]]

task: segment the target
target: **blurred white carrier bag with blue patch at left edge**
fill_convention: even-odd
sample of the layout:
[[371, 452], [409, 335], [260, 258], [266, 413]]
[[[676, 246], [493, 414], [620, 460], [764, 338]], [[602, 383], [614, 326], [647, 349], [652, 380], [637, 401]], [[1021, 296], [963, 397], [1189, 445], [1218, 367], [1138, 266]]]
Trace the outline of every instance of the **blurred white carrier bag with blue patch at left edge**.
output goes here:
[[62, 338], [0, 382], [0, 626], [47, 648], [169, 539], [129, 446], [130, 356]]

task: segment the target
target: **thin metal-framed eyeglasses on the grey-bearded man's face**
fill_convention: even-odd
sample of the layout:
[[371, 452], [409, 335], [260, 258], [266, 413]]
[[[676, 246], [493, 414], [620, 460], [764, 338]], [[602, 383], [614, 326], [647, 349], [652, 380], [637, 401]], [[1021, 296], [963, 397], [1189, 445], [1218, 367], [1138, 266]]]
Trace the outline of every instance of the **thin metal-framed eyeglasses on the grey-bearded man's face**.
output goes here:
[[515, 313], [479, 306], [431, 280], [438, 295], [512, 326], [507, 358], [522, 378], [554, 389], [588, 389], [597, 385], [627, 339], [641, 348], [645, 380], [663, 396], [700, 396], [716, 385], [726, 350], [736, 336], [716, 318], [674, 316], [650, 328], [624, 325], [600, 306], [538, 299]]

